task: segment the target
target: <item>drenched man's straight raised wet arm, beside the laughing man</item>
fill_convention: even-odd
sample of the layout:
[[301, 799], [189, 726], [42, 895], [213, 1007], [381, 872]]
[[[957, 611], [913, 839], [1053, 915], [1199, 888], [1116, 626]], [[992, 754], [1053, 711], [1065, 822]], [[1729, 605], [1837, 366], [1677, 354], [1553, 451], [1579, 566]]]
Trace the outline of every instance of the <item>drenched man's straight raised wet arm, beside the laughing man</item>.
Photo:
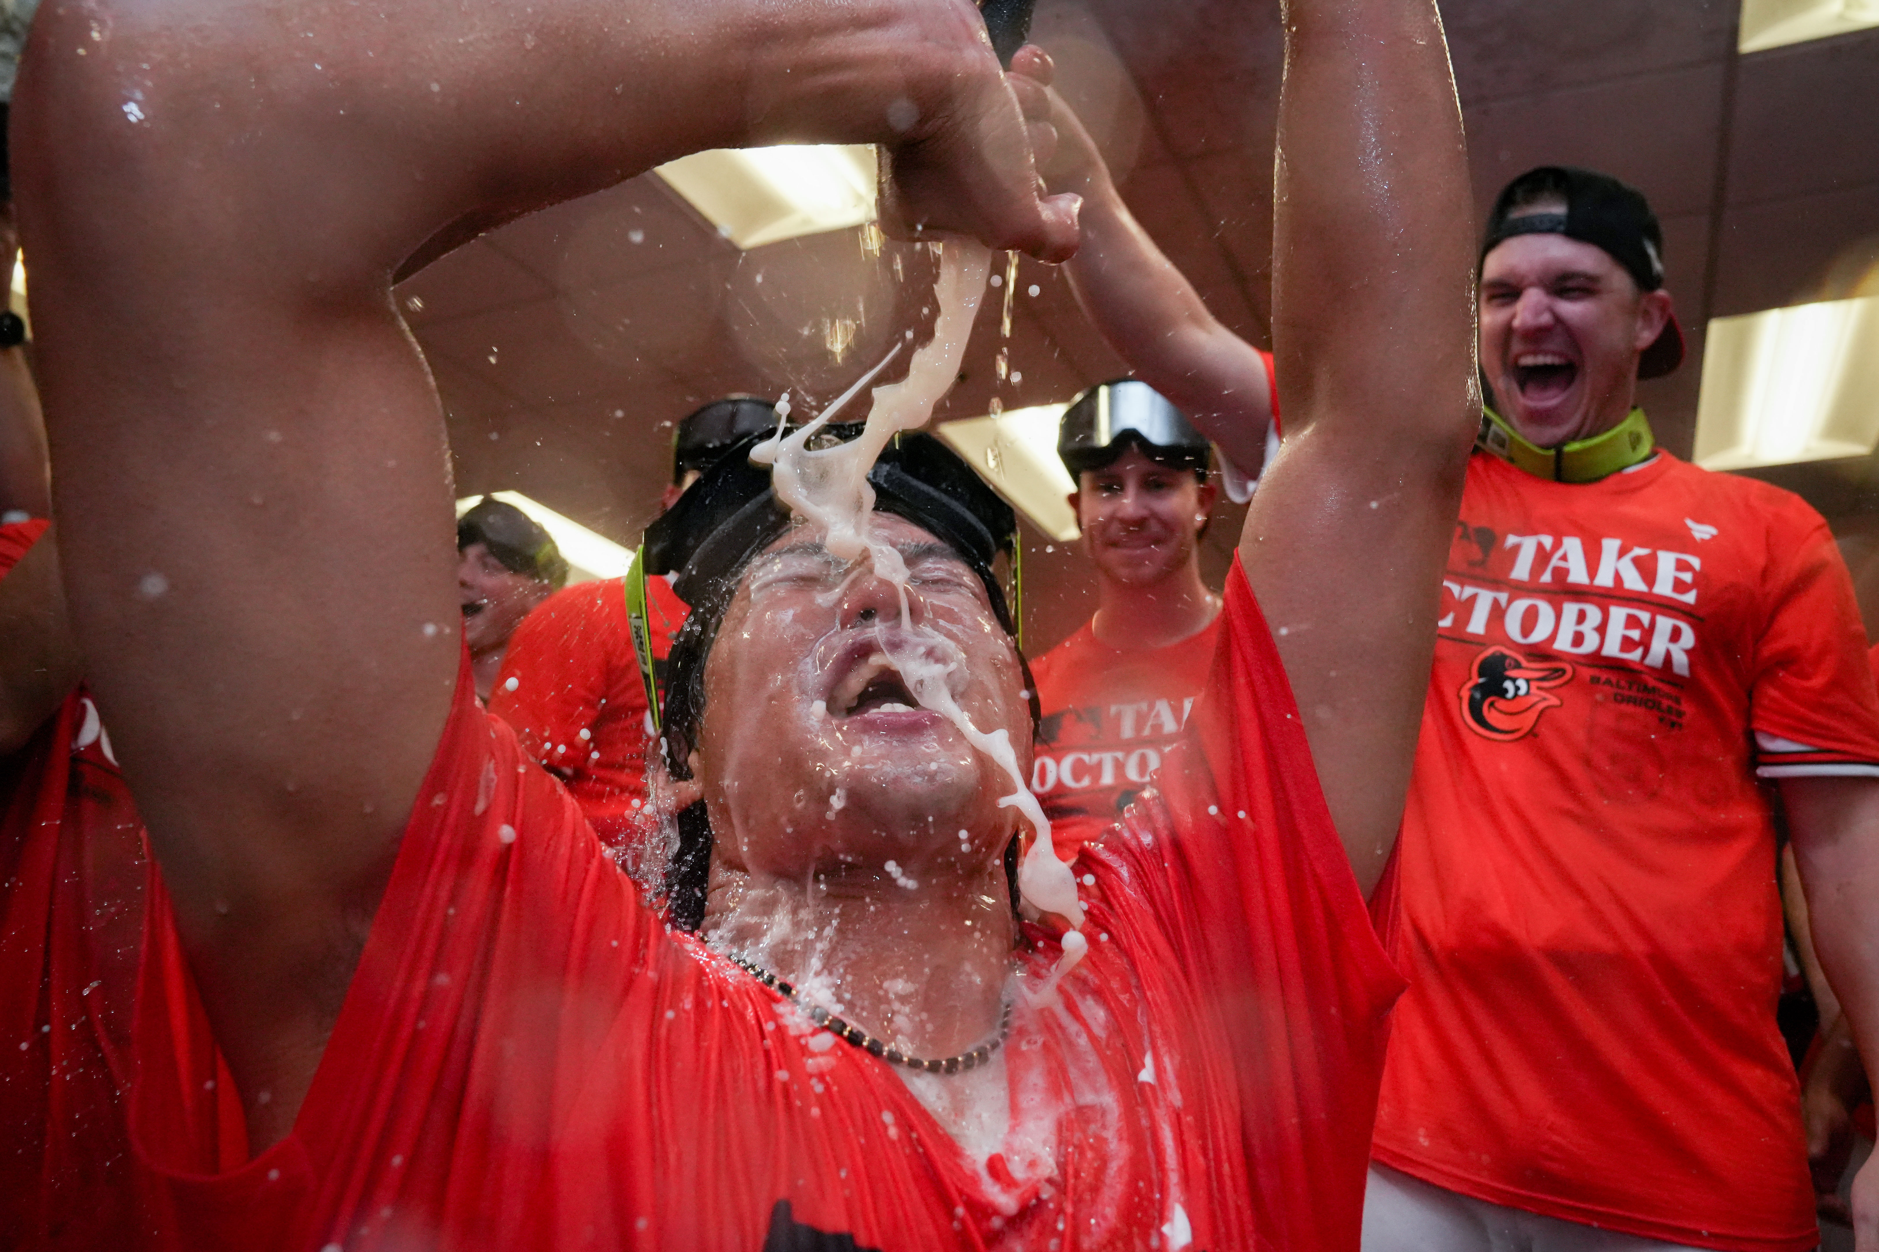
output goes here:
[[1366, 890], [1402, 818], [1481, 419], [1471, 221], [1434, 0], [1291, 0], [1272, 231], [1285, 445], [1240, 561]]

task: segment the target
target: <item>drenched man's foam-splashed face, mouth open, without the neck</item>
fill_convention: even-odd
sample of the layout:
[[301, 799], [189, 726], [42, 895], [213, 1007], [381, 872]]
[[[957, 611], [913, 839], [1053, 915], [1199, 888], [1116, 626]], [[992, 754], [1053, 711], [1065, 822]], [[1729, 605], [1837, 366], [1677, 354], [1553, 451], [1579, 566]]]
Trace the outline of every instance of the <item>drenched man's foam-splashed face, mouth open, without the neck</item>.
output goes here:
[[[951, 689], [981, 730], [1003, 726], [1030, 764], [1030, 708], [1011, 636], [977, 574], [917, 526], [876, 514], [908, 561], [900, 597], [872, 567], [844, 567], [814, 531], [791, 529], [746, 573], [705, 670], [695, 773], [716, 858], [780, 878], [877, 875], [887, 860], [956, 873], [996, 862], [1015, 828], [1011, 790], [940, 713], [919, 708], [876, 661], [879, 634], [923, 634], [955, 651]], [[840, 807], [836, 807], [840, 792]], [[814, 832], [814, 837], [804, 835]]]

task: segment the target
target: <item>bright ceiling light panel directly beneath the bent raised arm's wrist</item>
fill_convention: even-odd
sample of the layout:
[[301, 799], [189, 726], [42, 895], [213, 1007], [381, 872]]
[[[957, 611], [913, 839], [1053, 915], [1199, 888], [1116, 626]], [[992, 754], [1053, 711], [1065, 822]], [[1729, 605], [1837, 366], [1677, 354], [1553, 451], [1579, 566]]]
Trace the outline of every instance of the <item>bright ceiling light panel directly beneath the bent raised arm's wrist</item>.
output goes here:
[[658, 167], [738, 248], [844, 231], [874, 220], [874, 148], [712, 148]]

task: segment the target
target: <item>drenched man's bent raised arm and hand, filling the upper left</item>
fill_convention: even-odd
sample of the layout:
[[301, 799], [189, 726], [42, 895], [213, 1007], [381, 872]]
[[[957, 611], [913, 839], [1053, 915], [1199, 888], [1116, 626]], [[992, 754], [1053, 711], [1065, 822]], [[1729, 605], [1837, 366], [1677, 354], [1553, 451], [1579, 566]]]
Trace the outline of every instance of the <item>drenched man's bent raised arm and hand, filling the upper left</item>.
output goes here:
[[785, 139], [893, 145], [904, 229], [1075, 248], [966, 0], [41, 9], [13, 143], [71, 614], [256, 1145], [312, 1077], [458, 666], [393, 274]]

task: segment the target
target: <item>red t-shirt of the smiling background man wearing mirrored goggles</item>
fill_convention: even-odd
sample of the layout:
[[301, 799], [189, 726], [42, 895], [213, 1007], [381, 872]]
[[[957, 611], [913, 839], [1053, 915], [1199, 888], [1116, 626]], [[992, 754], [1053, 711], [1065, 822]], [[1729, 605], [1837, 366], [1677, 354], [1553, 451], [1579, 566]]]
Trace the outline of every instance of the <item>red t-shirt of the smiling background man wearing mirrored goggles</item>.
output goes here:
[[1122, 817], [1182, 740], [1218, 646], [1218, 616], [1167, 648], [1110, 648], [1084, 621], [1032, 664], [1043, 711], [1032, 790], [1064, 856]]

